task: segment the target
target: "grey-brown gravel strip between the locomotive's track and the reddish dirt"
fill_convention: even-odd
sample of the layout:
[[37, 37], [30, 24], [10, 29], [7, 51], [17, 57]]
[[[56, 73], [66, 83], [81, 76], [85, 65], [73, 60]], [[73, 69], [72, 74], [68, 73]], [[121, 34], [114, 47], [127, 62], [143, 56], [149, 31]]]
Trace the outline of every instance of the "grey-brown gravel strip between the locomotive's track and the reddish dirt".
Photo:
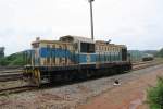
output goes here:
[[[140, 76], [152, 74], [154, 71], [162, 69], [163, 65], [155, 65], [143, 70], [133, 71], [121, 75], [103, 77], [99, 80], [90, 80], [83, 83], [72, 85], [49, 87], [34, 92], [24, 92], [14, 94], [8, 98], [0, 97], [0, 101], [8, 99], [9, 102], [0, 108], [58, 108], [58, 109], [75, 109], [78, 105], [86, 104], [89, 99], [101, 95], [104, 92], [114, 89], [113, 83], [120, 80], [121, 84], [126, 84]], [[15, 100], [16, 99], [16, 100]], [[23, 99], [23, 100], [22, 100]]]

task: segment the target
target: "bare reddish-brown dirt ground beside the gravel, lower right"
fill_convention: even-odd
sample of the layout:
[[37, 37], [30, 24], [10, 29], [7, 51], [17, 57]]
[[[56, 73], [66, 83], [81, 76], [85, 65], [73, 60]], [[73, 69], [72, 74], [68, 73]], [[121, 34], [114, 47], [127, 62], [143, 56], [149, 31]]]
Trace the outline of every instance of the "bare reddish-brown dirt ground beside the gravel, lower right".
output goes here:
[[156, 77], [163, 76], [163, 69], [145, 74], [106, 93], [93, 97], [78, 109], [149, 109], [146, 104], [147, 89], [154, 86]]

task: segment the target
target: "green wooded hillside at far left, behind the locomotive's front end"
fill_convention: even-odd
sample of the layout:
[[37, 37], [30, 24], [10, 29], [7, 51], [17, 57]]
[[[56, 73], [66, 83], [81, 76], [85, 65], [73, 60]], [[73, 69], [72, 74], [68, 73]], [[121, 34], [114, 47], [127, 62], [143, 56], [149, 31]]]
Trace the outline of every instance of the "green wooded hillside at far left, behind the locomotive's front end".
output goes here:
[[0, 65], [24, 65], [24, 56], [22, 52], [0, 59]]

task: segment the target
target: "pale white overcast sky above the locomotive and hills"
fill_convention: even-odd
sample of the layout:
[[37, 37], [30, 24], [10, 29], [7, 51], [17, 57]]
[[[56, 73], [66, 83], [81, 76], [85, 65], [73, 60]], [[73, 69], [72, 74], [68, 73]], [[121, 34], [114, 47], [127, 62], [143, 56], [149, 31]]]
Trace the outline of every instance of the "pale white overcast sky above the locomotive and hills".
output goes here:
[[[95, 0], [95, 39], [129, 49], [163, 47], [163, 0]], [[30, 48], [36, 37], [90, 37], [87, 0], [0, 0], [0, 46], [10, 55]]]

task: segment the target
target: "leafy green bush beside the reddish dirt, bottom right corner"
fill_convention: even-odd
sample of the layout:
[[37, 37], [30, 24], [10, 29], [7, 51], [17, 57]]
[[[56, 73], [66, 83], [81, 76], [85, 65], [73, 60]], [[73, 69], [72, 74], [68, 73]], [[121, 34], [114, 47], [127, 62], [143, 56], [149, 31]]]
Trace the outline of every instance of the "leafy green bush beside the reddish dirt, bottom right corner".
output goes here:
[[156, 86], [148, 89], [148, 104], [150, 109], [163, 109], [163, 78], [159, 77]]

